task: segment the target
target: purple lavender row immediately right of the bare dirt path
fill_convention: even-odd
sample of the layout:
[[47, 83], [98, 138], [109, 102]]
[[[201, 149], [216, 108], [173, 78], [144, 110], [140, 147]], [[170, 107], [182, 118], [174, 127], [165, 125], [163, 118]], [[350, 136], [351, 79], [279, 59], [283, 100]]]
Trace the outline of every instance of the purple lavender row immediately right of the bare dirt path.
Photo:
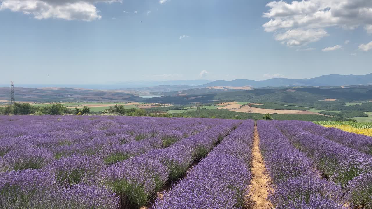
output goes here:
[[343, 208], [341, 187], [322, 179], [312, 168], [312, 161], [295, 149], [275, 126], [260, 120], [257, 130], [265, 167], [273, 183], [268, 197], [273, 208]]

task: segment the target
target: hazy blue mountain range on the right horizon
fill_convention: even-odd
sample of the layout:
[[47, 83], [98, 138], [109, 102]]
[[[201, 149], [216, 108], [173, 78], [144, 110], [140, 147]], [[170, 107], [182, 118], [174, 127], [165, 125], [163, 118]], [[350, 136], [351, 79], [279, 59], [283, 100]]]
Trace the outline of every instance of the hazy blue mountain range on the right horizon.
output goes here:
[[367, 75], [322, 75], [315, 78], [291, 79], [291, 78], [272, 78], [263, 81], [248, 79], [236, 79], [232, 81], [217, 80], [210, 83], [199, 85], [198, 87], [211, 86], [250, 86], [254, 88], [267, 86], [350, 86], [350, 85], [371, 85], [372, 73]]

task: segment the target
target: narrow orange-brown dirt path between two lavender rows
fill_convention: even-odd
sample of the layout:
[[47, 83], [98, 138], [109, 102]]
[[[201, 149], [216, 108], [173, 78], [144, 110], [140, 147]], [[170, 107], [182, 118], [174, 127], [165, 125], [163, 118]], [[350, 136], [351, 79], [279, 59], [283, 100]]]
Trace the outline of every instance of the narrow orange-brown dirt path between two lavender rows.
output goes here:
[[260, 138], [257, 131], [257, 125], [254, 126], [254, 139], [252, 148], [252, 180], [250, 189], [250, 199], [253, 200], [250, 208], [261, 209], [270, 208], [270, 201], [267, 200], [267, 189], [270, 177], [266, 173], [265, 164], [259, 148]]

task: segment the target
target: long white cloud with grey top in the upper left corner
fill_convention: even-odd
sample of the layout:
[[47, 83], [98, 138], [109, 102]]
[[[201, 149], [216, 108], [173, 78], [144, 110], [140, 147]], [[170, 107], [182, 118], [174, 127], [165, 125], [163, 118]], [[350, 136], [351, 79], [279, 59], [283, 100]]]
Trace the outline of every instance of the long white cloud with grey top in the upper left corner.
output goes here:
[[94, 4], [122, 0], [0, 0], [0, 10], [9, 9], [33, 15], [36, 19], [65, 19], [92, 21], [101, 19]]

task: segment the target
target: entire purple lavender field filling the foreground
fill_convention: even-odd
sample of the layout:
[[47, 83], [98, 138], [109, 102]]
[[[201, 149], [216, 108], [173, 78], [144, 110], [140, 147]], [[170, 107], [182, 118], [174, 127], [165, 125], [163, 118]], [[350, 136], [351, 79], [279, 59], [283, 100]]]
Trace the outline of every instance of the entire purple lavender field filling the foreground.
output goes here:
[[254, 148], [264, 208], [372, 208], [371, 137], [301, 121], [123, 116], [0, 117], [0, 208], [257, 208]]

